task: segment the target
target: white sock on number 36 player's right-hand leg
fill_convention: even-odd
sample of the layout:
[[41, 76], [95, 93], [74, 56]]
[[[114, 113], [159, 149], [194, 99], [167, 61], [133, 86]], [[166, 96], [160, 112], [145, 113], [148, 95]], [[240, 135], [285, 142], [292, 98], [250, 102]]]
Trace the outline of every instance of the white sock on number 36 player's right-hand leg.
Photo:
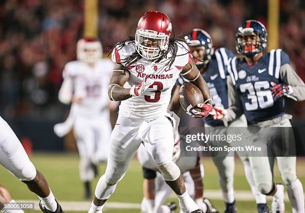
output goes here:
[[293, 208], [293, 213], [304, 213], [304, 192], [303, 186], [299, 179], [287, 185], [288, 197]]

